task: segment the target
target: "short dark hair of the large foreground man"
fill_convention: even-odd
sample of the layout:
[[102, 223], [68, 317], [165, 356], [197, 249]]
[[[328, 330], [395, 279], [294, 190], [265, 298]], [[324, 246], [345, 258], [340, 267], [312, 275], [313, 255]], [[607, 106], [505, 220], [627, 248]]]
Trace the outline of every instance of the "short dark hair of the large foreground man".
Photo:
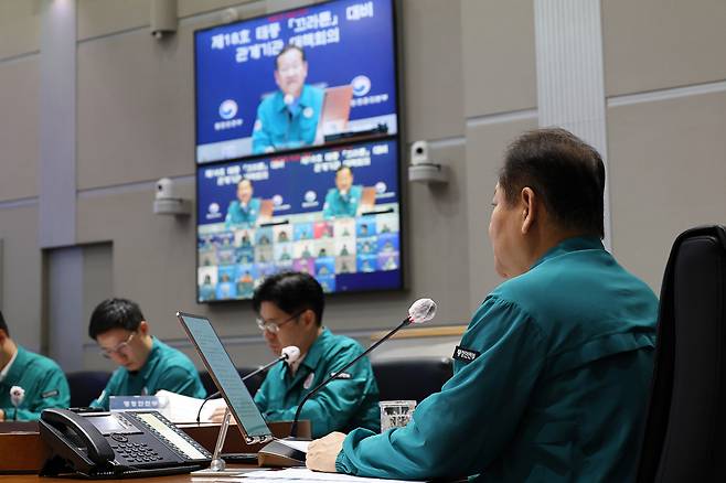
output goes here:
[[565, 129], [536, 129], [514, 140], [506, 150], [499, 186], [509, 205], [529, 186], [562, 228], [605, 236], [602, 158]]

